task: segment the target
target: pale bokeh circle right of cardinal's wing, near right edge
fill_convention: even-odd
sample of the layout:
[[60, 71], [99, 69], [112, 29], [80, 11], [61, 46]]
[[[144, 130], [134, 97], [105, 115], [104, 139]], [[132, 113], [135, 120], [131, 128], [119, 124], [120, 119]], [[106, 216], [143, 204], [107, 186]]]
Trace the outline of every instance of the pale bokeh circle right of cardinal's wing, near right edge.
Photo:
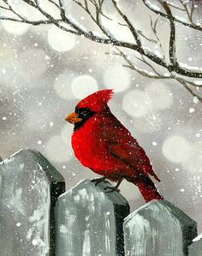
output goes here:
[[162, 151], [169, 161], [183, 163], [190, 158], [192, 146], [184, 137], [171, 136], [164, 140]]

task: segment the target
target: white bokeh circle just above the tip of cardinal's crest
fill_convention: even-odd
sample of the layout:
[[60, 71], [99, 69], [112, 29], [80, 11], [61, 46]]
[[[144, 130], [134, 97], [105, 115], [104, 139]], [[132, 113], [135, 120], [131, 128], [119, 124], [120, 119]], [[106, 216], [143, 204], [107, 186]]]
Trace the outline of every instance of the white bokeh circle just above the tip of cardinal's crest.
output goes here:
[[114, 89], [114, 92], [123, 92], [127, 90], [131, 83], [131, 74], [128, 68], [122, 65], [115, 65], [107, 68], [104, 72], [104, 86], [108, 89]]

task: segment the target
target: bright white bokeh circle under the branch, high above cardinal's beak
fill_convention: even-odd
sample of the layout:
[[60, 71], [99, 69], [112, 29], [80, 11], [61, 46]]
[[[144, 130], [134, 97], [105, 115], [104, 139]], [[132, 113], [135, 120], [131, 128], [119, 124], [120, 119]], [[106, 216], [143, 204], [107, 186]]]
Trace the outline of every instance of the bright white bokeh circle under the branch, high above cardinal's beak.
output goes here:
[[56, 26], [52, 26], [48, 32], [48, 41], [56, 51], [70, 51], [75, 45], [75, 36]]

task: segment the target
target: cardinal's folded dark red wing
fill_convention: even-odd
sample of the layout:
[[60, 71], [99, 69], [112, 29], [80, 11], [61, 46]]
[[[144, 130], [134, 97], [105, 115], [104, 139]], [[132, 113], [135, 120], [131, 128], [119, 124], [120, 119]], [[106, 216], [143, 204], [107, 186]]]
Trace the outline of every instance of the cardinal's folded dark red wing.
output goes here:
[[144, 149], [115, 116], [108, 116], [104, 120], [102, 133], [108, 150], [114, 158], [120, 159], [143, 176], [150, 174], [160, 181], [154, 173]]

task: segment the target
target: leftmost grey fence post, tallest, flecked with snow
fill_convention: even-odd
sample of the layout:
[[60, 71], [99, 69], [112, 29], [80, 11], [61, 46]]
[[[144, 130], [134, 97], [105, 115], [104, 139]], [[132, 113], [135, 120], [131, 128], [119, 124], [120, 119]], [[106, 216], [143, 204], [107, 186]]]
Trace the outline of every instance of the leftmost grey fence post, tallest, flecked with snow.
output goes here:
[[39, 152], [0, 163], [0, 255], [55, 255], [54, 205], [62, 176]]

